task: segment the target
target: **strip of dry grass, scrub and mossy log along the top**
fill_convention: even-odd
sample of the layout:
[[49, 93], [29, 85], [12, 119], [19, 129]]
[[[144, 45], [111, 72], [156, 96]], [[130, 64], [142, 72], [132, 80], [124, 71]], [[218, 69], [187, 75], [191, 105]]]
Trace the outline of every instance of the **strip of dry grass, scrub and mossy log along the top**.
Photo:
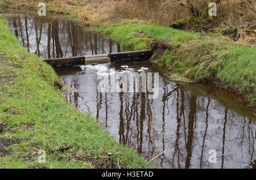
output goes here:
[[[41, 0], [0, 0], [0, 8], [38, 10]], [[253, 0], [46, 0], [47, 13], [76, 17], [89, 26], [110, 25], [137, 18], [164, 27], [222, 33], [240, 44], [255, 44], [255, 5]], [[209, 16], [209, 3], [217, 5], [217, 15]], [[227, 31], [226, 31], [227, 32]]]

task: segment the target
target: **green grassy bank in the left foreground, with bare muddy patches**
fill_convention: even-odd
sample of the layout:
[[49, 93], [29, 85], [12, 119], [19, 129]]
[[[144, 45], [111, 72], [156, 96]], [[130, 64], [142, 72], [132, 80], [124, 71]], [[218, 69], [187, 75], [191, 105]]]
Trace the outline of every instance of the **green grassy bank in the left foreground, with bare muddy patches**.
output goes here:
[[[0, 168], [109, 168], [112, 160], [114, 168], [152, 168], [68, 105], [60, 85], [55, 71], [28, 53], [0, 16]], [[38, 162], [40, 149], [46, 164]]]

